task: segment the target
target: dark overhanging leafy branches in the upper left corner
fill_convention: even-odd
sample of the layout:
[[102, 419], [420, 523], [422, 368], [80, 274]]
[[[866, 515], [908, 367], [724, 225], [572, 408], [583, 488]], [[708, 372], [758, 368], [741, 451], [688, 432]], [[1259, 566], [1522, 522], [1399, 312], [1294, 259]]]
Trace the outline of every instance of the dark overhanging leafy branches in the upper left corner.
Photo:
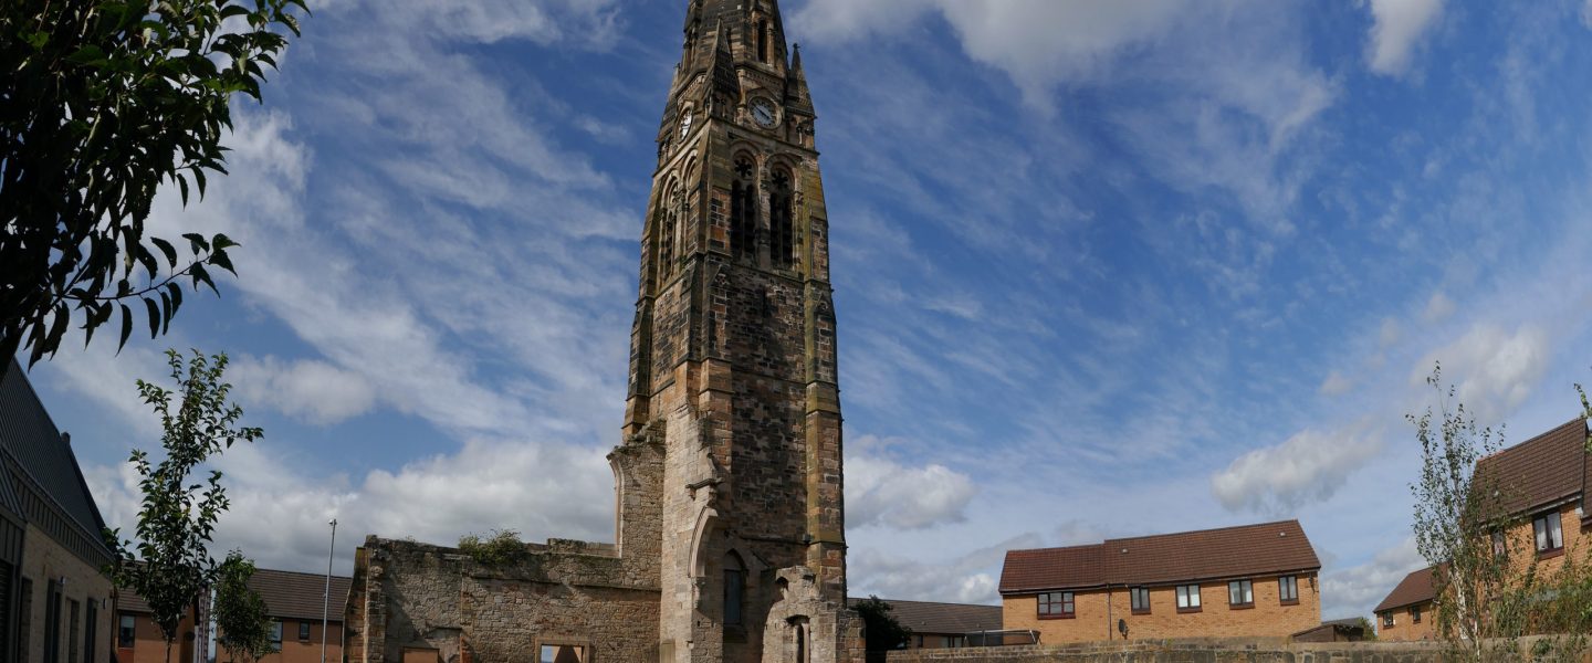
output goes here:
[[[183, 281], [215, 291], [226, 235], [146, 237], [154, 194], [224, 173], [234, 94], [259, 100], [304, 0], [0, 3], [0, 356], [88, 343], [119, 318], [167, 329]], [[164, 266], [162, 266], [164, 259]], [[142, 300], [142, 307], [135, 307]], [[132, 305], [129, 305], [132, 304]], [[143, 308], [135, 313], [135, 308]], [[0, 372], [6, 370], [0, 363]]]

